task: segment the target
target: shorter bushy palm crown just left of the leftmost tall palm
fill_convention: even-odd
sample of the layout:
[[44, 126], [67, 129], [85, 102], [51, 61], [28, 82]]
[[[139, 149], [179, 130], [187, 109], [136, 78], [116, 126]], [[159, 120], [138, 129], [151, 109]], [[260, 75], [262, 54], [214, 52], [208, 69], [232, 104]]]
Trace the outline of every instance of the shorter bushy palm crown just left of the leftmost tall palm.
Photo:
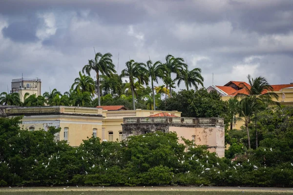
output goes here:
[[74, 79], [74, 83], [72, 84], [71, 88], [74, 91], [80, 91], [82, 93], [89, 92], [90, 94], [95, 94], [95, 82], [94, 80], [86, 75], [83, 75], [82, 72], [79, 72], [78, 78]]

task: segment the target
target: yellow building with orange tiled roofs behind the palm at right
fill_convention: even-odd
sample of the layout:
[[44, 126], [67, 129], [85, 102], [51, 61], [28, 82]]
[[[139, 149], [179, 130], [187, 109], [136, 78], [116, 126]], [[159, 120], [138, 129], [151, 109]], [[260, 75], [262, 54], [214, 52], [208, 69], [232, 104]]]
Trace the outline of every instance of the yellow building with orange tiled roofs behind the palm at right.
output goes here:
[[[221, 96], [222, 100], [228, 101], [230, 98], [234, 98], [237, 94], [248, 95], [248, 92], [243, 85], [248, 88], [251, 87], [244, 81], [230, 81], [224, 86], [209, 86], [207, 91], [216, 91]], [[278, 99], [273, 98], [273, 101], [277, 101], [282, 105], [293, 105], [293, 83], [271, 86], [273, 88], [273, 92], [278, 95]], [[236, 121], [233, 124], [233, 128], [240, 129], [240, 127], [243, 125], [243, 121]]]

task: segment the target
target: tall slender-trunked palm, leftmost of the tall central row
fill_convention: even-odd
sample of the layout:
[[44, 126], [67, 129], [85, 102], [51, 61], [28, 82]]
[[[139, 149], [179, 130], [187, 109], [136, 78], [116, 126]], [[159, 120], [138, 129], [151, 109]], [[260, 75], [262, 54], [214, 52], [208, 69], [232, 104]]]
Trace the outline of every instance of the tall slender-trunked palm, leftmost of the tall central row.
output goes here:
[[98, 52], [95, 55], [95, 59], [88, 60], [88, 64], [86, 64], [83, 68], [83, 73], [85, 71], [88, 76], [90, 76], [91, 70], [94, 70], [96, 72], [99, 106], [101, 106], [99, 73], [101, 73], [102, 75], [107, 75], [108, 77], [111, 77], [113, 73], [116, 73], [115, 65], [113, 64], [111, 57], [112, 54], [110, 53], [105, 53], [104, 55], [102, 55], [100, 52]]

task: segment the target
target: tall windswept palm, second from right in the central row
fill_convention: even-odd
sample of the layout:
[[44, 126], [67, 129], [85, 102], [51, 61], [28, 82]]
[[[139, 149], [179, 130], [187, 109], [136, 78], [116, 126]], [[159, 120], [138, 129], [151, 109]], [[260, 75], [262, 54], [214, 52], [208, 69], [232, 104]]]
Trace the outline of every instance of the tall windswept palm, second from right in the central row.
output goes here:
[[[171, 73], [176, 74], [176, 78], [179, 77], [179, 75], [186, 69], [188, 66], [184, 63], [183, 58], [174, 58], [172, 55], [166, 56], [166, 62], [164, 64], [165, 67], [165, 77], [168, 79], [171, 78]], [[167, 83], [165, 83], [167, 86]], [[172, 87], [169, 85], [169, 91], [170, 91], [170, 98], [172, 98]]]

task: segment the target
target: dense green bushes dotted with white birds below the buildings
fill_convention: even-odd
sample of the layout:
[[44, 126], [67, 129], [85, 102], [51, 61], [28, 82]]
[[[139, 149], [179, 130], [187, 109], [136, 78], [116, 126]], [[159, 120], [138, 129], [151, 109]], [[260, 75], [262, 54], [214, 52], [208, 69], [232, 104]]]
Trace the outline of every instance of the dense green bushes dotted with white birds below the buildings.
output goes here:
[[[212, 185], [293, 186], [293, 108], [267, 108], [246, 130], [227, 131], [230, 144], [225, 158], [209, 153], [205, 146], [174, 133], [145, 134], [122, 142], [91, 137], [73, 148], [54, 141], [60, 129], [26, 131], [20, 117], [0, 118], [0, 186], [101, 185]], [[252, 127], [252, 128], [251, 128]]]

